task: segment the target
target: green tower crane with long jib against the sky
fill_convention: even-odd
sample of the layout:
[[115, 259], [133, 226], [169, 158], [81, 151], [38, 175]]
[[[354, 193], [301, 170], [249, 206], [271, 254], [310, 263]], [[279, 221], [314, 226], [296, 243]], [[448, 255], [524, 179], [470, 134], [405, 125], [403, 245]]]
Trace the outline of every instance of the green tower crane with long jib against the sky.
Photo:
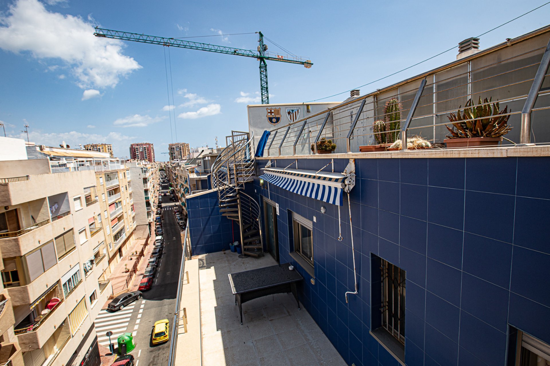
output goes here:
[[198, 49], [201, 51], [225, 53], [228, 55], [237, 55], [237, 56], [255, 58], [256, 60], [260, 61], [260, 90], [262, 94], [262, 104], [268, 104], [270, 103], [270, 96], [267, 88], [266, 60], [285, 62], [289, 64], [304, 65], [304, 67], [306, 67], [307, 69], [309, 69], [313, 64], [311, 63], [311, 60], [304, 60], [303, 58], [295, 55], [280, 55], [280, 54], [268, 53], [267, 44], [263, 42], [262, 32], [257, 32], [257, 33], [260, 36], [260, 39], [258, 40], [259, 45], [257, 47], [257, 51], [250, 50], [250, 49], [232, 48], [232, 47], [226, 47], [226, 46], [216, 46], [216, 44], [183, 41], [183, 40], [177, 40], [175, 38], [147, 36], [144, 34], [114, 31], [111, 29], [103, 29], [98, 27], [96, 27], [94, 36], [114, 38], [115, 40], [123, 40], [123, 41], [160, 44], [161, 46], [166, 46], [166, 47]]

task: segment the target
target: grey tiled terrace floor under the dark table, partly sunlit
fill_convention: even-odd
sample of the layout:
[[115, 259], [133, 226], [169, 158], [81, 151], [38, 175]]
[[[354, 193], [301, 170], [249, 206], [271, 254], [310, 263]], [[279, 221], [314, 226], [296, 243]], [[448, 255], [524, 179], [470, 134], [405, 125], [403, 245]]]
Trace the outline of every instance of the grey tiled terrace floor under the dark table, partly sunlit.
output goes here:
[[243, 305], [243, 325], [228, 273], [277, 264], [269, 255], [241, 259], [226, 251], [199, 257], [202, 363], [227, 366], [345, 365], [334, 346], [292, 294]]

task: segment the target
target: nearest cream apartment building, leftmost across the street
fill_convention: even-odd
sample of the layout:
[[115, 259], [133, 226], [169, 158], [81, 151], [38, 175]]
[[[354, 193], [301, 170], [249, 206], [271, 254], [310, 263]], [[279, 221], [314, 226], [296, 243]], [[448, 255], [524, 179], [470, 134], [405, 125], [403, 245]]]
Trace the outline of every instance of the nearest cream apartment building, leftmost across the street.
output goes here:
[[0, 362], [98, 365], [93, 321], [112, 288], [96, 173], [21, 155], [0, 162]]

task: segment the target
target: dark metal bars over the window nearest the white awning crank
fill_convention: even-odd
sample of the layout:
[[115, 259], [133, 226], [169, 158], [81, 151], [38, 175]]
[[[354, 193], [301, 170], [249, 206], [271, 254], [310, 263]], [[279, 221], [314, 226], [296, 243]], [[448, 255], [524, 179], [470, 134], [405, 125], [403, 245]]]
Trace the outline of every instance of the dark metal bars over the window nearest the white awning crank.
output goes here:
[[405, 271], [382, 260], [382, 326], [405, 344]]

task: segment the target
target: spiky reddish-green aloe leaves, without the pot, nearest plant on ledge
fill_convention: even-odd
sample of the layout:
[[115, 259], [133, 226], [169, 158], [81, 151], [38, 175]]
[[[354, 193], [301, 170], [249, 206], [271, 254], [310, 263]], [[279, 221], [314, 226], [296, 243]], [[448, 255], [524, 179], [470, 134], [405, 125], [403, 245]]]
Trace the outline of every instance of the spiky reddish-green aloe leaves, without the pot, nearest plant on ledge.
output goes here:
[[512, 127], [508, 126], [508, 105], [500, 111], [500, 103], [491, 102], [492, 98], [485, 98], [482, 103], [480, 97], [477, 105], [474, 105], [470, 98], [462, 113], [460, 106], [456, 114], [447, 116], [453, 125], [453, 128], [445, 125], [450, 132], [447, 138], [500, 137], [510, 132]]

